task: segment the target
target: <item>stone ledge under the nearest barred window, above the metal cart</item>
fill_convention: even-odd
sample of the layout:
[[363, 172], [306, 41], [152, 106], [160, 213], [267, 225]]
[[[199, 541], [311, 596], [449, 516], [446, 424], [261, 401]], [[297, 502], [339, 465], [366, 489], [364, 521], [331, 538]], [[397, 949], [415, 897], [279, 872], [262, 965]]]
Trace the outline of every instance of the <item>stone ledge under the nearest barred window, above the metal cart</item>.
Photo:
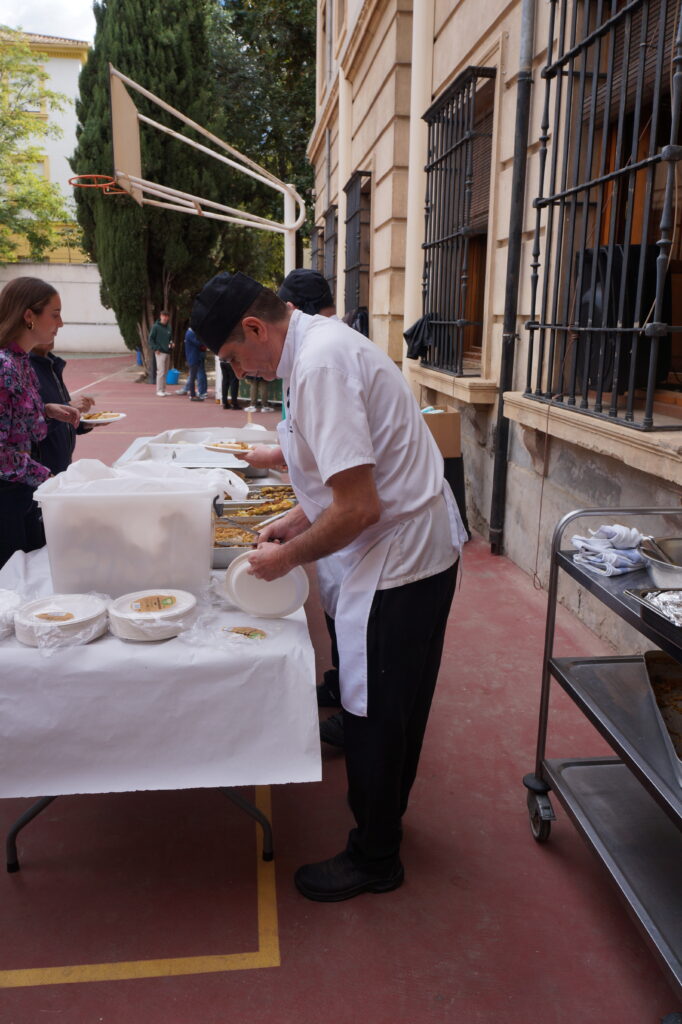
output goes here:
[[520, 391], [504, 395], [505, 416], [530, 430], [608, 456], [678, 486], [682, 481], [682, 431], [633, 430], [611, 420], [547, 406]]

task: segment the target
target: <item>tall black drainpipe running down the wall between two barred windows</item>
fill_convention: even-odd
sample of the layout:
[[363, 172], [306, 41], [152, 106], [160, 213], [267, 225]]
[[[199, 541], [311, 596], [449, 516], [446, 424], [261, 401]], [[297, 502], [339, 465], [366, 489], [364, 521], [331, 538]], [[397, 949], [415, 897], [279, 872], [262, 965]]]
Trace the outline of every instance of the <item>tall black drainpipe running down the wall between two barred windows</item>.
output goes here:
[[495, 428], [495, 462], [493, 466], [493, 497], [491, 500], [489, 542], [491, 551], [494, 555], [502, 554], [507, 504], [509, 420], [504, 414], [502, 396], [505, 391], [511, 390], [514, 382], [516, 313], [518, 308], [518, 279], [521, 264], [525, 166], [528, 157], [528, 120], [530, 116], [530, 87], [532, 85], [535, 22], [536, 0], [523, 0], [521, 6], [519, 71], [516, 85], [516, 127], [514, 130], [514, 165], [512, 170], [511, 209], [509, 213], [505, 316], [502, 327], [498, 422]]

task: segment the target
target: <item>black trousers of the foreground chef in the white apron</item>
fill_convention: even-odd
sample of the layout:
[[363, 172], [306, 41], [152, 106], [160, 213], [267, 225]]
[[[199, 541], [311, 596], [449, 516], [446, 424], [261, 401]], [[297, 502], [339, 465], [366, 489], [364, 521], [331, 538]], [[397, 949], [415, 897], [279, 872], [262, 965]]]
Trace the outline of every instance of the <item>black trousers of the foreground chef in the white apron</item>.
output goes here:
[[400, 818], [417, 774], [456, 580], [457, 564], [374, 596], [367, 631], [368, 715], [343, 712], [348, 803], [357, 822], [348, 851], [360, 863], [388, 869], [397, 859]]

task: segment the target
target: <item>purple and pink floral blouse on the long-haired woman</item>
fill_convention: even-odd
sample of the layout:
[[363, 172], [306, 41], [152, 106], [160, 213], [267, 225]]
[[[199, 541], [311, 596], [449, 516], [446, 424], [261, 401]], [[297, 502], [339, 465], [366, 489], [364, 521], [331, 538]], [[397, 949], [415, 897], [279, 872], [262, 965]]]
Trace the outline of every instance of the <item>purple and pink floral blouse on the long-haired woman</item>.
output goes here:
[[10, 342], [0, 348], [0, 480], [37, 487], [50, 475], [31, 458], [47, 433], [45, 409], [28, 352]]

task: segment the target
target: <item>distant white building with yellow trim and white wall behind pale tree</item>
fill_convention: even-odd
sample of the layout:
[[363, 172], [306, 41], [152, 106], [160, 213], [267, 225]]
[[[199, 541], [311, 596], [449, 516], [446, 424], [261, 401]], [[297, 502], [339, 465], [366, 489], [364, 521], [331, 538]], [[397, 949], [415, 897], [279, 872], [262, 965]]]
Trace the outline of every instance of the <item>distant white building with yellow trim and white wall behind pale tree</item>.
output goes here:
[[[57, 184], [73, 210], [73, 188], [69, 178], [73, 171], [69, 157], [76, 146], [76, 110], [78, 96], [78, 76], [88, 54], [88, 44], [75, 39], [59, 39], [55, 36], [25, 34], [31, 48], [44, 54], [43, 67], [48, 74], [46, 86], [68, 97], [68, 103], [58, 114], [61, 135], [42, 140], [45, 177]], [[36, 117], [47, 117], [43, 111], [36, 111]], [[121, 352], [126, 346], [119, 333], [116, 318], [111, 309], [105, 309], [99, 299], [99, 273], [94, 263], [88, 261], [74, 239], [78, 239], [78, 225], [65, 224], [62, 244], [51, 250], [47, 259], [33, 263], [22, 259], [0, 265], [0, 285], [20, 274], [43, 278], [58, 290], [62, 303], [65, 326], [59, 332], [59, 351], [79, 352]]]

